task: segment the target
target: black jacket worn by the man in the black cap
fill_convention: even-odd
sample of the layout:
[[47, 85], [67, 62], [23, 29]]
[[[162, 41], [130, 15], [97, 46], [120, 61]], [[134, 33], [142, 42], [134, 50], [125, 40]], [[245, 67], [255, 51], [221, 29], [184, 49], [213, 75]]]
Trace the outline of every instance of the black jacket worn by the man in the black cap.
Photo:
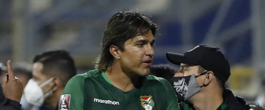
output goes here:
[[[192, 109], [195, 110], [192, 104], [190, 103], [180, 103], [181, 110]], [[223, 103], [217, 110], [249, 110], [251, 109], [248, 104], [244, 101], [243, 98], [234, 96], [231, 90], [228, 88], [223, 89]]]

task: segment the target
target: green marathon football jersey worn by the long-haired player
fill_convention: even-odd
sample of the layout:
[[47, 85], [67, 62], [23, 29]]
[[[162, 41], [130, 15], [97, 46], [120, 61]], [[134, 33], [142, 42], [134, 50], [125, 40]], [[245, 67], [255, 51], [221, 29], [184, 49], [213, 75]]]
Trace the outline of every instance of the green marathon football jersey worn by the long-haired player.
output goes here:
[[139, 88], [124, 92], [102, 71], [71, 78], [59, 101], [59, 110], [180, 110], [173, 88], [163, 78], [148, 75]]

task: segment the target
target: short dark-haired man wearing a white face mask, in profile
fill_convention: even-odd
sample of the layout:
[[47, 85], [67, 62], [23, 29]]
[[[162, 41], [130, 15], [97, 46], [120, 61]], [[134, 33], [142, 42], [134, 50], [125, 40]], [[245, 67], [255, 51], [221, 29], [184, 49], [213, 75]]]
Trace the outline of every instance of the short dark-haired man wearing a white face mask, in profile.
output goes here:
[[58, 109], [60, 95], [72, 76], [76, 75], [74, 61], [67, 51], [48, 51], [35, 56], [33, 78], [24, 89], [25, 98], [39, 110]]

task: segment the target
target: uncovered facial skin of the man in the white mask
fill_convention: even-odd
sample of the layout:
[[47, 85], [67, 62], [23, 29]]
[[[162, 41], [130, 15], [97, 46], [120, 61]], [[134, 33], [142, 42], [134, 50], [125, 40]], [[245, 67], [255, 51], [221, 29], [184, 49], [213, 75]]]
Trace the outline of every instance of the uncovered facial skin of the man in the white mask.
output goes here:
[[[42, 83], [46, 82], [50, 77], [42, 74], [43, 64], [42, 63], [34, 63], [32, 67], [32, 78], [41, 85]], [[42, 87], [43, 93], [47, 93], [51, 90], [52, 83], [48, 83], [47, 85]]]

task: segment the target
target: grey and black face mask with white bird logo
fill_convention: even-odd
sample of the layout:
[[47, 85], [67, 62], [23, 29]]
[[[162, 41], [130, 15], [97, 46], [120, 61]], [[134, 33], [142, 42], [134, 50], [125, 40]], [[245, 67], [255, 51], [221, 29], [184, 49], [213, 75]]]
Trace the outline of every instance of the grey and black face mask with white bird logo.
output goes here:
[[[201, 73], [200, 75], [204, 75], [206, 73], [207, 71]], [[189, 76], [173, 77], [171, 79], [171, 83], [178, 97], [178, 101], [188, 101], [189, 98], [201, 91], [201, 87], [196, 82], [196, 78], [198, 76], [192, 74]]]

